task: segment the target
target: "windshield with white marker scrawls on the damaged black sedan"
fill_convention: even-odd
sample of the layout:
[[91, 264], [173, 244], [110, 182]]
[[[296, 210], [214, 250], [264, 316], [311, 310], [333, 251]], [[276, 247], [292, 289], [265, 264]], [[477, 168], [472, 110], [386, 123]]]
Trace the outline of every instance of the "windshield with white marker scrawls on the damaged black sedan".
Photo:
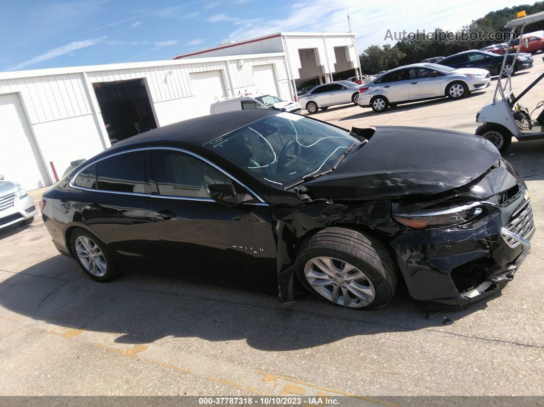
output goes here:
[[281, 112], [206, 143], [244, 171], [286, 188], [333, 170], [344, 151], [361, 140], [348, 130]]

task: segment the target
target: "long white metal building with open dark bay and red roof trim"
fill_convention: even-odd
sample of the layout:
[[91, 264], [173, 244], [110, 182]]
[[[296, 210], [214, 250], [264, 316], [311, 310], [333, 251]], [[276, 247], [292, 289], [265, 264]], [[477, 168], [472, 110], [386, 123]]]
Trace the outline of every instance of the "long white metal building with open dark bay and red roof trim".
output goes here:
[[[342, 36], [305, 41], [300, 34], [287, 41], [290, 34], [280, 34], [218, 49], [223, 55], [0, 72], [0, 174], [32, 190], [52, 184], [55, 171], [60, 178], [71, 161], [90, 158], [112, 141], [207, 115], [215, 99], [260, 91], [293, 100], [294, 80], [316, 66], [327, 81], [339, 71], [334, 66], [347, 60], [358, 66], [351, 37]], [[237, 48], [249, 44], [256, 48]], [[337, 47], [345, 50], [340, 58]], [[238, 54], [229, 54], [234, 49]], [[308, 49], [313, 67], [312, 58], [304, 58]]]

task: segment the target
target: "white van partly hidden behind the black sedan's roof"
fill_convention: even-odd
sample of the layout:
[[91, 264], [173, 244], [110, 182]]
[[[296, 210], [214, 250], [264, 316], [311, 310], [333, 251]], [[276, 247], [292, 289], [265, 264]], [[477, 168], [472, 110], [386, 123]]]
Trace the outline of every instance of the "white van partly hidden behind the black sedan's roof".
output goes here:
[[247, 109], [274, 109], [290, 113], [300, 113], [302, 110], [300, 104], [286, 102], [272, 95], [239, 95], [227, 97], [221, 101], [212, 103], [209, 112], [213, 115], [214, 113]]

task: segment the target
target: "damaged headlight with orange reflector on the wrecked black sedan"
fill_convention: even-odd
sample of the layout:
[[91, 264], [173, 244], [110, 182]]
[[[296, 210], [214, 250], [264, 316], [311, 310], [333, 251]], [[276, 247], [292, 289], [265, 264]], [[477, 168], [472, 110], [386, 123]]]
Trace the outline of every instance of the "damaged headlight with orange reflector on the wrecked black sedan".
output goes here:
[[465, 223], [478, 217], [483, 210], [481, 205], [480, 202], [474, 202], [443, 210], [395, 214], [393, 218], [404, 226], [413, 229], [443, 228]]

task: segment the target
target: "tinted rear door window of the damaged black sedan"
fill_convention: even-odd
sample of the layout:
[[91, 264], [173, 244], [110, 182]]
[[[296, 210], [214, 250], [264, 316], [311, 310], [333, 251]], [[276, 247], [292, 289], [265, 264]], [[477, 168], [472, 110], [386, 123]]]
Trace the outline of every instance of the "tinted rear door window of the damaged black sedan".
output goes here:
[[149, 193], [143, 152], [114, 155], [96, 163], [97, 187], [103, 191]]

